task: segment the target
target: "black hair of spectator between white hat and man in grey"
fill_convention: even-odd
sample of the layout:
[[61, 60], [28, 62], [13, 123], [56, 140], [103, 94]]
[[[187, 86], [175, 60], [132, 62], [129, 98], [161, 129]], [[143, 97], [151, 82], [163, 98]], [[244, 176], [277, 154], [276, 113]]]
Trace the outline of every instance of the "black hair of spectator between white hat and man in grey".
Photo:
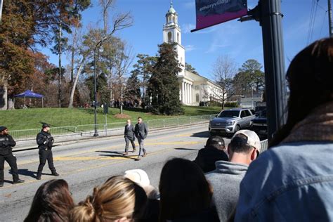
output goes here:
[[211, 204], [212, 189], [202, 170], [188, 159], [171, 159], [159, 180], [159, 221], [197, 214]]

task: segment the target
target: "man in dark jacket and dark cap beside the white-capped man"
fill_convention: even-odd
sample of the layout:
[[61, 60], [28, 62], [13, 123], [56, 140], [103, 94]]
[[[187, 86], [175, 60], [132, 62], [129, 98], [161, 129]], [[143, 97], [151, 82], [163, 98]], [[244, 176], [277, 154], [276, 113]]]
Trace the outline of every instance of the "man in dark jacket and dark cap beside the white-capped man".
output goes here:
[[206, 146], [199, 150], [194, 162], [200, 166], [204, 173], [216, 169], [215, 162], [218, 160], [228, 161], [224, 140], [221, 136], [211, 136]]

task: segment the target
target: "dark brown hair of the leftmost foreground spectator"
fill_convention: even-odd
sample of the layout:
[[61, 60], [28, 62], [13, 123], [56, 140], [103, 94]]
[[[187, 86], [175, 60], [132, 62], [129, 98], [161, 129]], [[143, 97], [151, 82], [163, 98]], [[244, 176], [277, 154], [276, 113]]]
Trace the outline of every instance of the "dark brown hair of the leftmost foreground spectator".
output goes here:
[[34, 195], [25, 222], [68, 221], [68, 212], [74, 207], [73, 199], [64, 180], [43, 183]]

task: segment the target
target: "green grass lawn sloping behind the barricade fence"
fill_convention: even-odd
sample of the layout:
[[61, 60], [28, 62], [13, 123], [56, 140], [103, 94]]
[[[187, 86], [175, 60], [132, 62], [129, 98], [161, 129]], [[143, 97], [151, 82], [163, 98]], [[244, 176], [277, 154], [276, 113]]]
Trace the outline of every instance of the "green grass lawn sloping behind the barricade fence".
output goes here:
[[[184, 116], [214, 115], [221, 111], [221, 107], [195, 107], [184, 106]], [[132, 122], [136, 122], [137, 117], [142, 117], [144, 121], [149, 119], [166, 119], [178, 116], [152, 115], [149, 112], [142, 112], [141, 109], [124, 110], [125, 115], [129, 115]], [[109, 108], [107, 123], [126, 122], [126, 119], [117, 119], [119, 109]], [[77, 126], [93, 124], [93, 108], [32, 108], [25, 110], [4, 110], [0, 111], [0, 126], [6, 126], [10, 130], [18, 129], [39, 129], [39, 122], [47, 122], [53, 126]], [[105, 123], [103, 109], [98, 109], [97, 122]]]

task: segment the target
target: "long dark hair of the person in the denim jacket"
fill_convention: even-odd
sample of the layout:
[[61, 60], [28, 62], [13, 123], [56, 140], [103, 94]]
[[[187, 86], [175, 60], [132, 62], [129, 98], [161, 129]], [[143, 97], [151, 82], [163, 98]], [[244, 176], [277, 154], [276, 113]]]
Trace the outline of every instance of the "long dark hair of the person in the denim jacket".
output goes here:
[[298, 53], [287, 75], [290, 96], [287, 123], [270, 145], [278, 145], [315, 107], [333, 101], [333, 38], [320, 39]]

